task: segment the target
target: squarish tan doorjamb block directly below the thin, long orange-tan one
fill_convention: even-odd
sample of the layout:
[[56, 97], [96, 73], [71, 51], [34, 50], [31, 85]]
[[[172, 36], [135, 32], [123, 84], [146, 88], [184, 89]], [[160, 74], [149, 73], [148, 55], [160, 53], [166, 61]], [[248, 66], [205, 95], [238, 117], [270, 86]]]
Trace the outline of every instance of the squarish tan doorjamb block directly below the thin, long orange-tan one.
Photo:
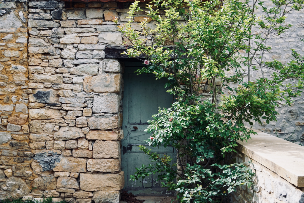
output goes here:
[[120, 141], [96, 140], [93, 145], [94, 159], [118, 159], [120, 156]]

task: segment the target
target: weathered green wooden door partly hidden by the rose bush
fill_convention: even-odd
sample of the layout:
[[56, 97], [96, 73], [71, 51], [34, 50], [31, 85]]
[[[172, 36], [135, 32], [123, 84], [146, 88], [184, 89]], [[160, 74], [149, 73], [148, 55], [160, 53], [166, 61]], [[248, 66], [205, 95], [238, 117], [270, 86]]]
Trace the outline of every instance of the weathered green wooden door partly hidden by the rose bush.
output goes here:
[[[132, 192], [134, 195], [174, 195], [174, 191], [167, 191], [161, 187], [160, 182], [156, 182], [156, 176], [151, 175], [143, 180], [132, 181], [130, 175], [133, 175], [135, 167], [142, 164], [153, 164], [148, 156], [140, 152], [138, 145], [146, 145], [143, 140], [148, 139], [151, 134], [145, 133], [147, 121], [152, 120], [151, 116], [157, 114], [158, 107], [170, 107], [173, 96], [164, 89], [165, 80], [155, 80], [150, 74], [137, 75], [135, 70], [144, 65], [140, 62], [126, 62], [123, 93], [123, 133], [122, 140], [122, 170], [125, 172], [124, 190]], [[137, 127], [138, 129], [133, 128]], [[176, 162], [176, 153], [173, 147], [163, 146], [154, 147], [153, 152], [169, 155]]]

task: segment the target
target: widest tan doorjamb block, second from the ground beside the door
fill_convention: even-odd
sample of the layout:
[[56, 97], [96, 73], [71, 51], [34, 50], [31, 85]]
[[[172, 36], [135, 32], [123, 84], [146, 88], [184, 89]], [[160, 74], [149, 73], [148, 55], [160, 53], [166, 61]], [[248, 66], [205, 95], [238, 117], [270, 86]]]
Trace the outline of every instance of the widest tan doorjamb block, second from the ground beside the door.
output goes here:
[[116, 174], [80, 173], [80, 188], [84, 191], [119, 191], [124, 184], [123, 171]]

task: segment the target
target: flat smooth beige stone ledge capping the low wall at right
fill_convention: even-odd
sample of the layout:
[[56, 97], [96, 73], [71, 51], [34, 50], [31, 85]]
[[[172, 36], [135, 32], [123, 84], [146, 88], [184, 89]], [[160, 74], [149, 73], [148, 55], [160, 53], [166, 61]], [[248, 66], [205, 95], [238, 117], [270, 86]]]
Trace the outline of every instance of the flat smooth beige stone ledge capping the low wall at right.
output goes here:
[[304, 187], [304, 147], [254, 131], [257, 135], [247, 142], [238, 141], [237, 149], [296, 187]]

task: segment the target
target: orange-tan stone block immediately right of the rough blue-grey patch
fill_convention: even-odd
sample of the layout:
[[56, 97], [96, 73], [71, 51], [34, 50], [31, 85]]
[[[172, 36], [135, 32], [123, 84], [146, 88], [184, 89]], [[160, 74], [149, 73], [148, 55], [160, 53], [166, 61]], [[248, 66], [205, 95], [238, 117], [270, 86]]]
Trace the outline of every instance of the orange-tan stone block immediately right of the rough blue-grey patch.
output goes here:
[[53, 170], [60, 172], [86, 172], [86, 161], [82, 158], [64, 156], [60, 159], [60, 162], [55, 163]]

